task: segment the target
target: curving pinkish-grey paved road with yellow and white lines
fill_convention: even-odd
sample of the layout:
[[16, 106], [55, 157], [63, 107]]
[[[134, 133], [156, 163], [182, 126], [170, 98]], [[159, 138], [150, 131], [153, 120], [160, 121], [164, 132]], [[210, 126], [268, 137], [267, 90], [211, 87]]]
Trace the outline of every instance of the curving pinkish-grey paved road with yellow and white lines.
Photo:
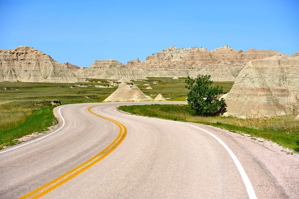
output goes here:
[[275, 158], [271, 150], [265, 162], [266, 155], [255, 150], [269, 149], [253, 140], [116, 110], [121, 104], [148, 103], [153, 102], [59, 107], [65, 120], [60, 117], [60, 130], [0, 151], [0, 199], [299, 196], [297, 181], [280, 178], [281, 166], [267, 163]]

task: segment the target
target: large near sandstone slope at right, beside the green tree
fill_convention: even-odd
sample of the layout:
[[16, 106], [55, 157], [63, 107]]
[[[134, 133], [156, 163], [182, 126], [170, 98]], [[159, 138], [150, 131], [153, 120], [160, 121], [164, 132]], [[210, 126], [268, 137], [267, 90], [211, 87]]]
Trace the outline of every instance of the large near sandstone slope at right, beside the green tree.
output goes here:
[[226, 96], [227, 113], [241, 118], [299, 113], [299, 56], [250, 61]]

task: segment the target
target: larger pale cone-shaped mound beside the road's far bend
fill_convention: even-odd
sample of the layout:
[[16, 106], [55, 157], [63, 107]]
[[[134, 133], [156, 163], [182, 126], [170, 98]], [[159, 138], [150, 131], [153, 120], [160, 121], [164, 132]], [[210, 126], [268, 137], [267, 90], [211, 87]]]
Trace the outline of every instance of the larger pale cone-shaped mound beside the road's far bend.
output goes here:
[[114, 93], [104, 102], [149, 101], [151, 97], [144, 94], [136, 85], [121, 83]]

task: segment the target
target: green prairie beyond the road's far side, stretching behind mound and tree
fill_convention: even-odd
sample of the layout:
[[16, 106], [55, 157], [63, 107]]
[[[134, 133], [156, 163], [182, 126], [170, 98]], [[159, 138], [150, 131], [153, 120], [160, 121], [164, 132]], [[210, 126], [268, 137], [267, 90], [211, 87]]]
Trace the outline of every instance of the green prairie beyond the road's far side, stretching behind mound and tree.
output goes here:
[[[90, 79], [84, 83], [26, 83], [0, 82], [0, 148], [11, 145], [14, 139], [47, 130], [56, 122], [52, 110], [55, 106], [47, 101], [60, 100], [62, 104], [102, 102], [117, 87], [97, 88], [93, 85], [108, 85], [103, 79]], [[97, 82], [102, 83], [97, 83]], [[161, 93], [169, 101], [185, 101], [188, 90], [185, 78], [149, 77], [146, 81], [134, 81], [142, 91], [154, 99]], [[152, 89], [145, 90], [149, 84]], [[228, 92], [233, 82], [216, 82]], [[89, 85], [80, 87], [78, 85]], [[34, 122], [33, 122], [34, 121]]]

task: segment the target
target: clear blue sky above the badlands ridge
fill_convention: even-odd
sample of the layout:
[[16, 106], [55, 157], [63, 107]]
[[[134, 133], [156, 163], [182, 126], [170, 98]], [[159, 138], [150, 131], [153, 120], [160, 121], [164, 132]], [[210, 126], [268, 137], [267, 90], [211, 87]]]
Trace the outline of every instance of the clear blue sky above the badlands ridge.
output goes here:
[[122, 63], [166, 47], [299, 51], [299, 0], [0, 0], [0, 48]]

